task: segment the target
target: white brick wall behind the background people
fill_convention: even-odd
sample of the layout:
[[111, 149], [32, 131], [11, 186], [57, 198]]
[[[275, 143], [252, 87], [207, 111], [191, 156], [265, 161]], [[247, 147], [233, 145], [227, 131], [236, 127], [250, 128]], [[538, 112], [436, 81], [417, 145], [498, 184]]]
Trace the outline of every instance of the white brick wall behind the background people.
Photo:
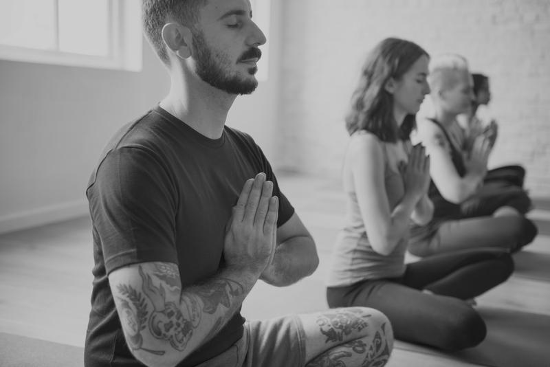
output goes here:
[[279, 1], [279, 168], [339, 177], [360, 66], [397, 36], [430, 54], [462, 54], [489, 75], [500, 123], [490, 164], [525, 165], [532, 194], [550, 197], [550, 0]]

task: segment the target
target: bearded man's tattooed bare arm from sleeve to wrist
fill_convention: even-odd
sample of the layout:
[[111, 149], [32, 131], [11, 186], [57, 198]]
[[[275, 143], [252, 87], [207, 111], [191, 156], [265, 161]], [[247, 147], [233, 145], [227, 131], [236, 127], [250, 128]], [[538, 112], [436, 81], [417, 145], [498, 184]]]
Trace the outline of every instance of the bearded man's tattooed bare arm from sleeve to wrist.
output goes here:
[[259, 276], [226, 268], [200, 285], [181, 287], [175, 265], [155, 266], [139, 265], [142, 286], [121, 282], [115, 295], [126, 342], [146, 366], [175, 366], [212, 339]]

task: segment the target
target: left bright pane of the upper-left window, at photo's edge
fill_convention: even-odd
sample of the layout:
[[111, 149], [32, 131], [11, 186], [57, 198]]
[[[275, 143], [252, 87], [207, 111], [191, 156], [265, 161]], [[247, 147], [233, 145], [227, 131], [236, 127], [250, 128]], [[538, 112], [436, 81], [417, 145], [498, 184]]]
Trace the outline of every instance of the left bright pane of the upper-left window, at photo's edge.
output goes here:
[[54, 49], [54, 0], [0, 0], [0, 44]]

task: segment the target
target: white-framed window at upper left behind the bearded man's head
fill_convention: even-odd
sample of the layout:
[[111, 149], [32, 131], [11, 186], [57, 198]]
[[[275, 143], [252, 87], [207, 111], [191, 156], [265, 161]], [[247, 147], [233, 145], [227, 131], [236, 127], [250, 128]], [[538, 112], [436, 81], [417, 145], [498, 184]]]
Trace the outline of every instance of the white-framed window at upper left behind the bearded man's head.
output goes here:
[[136, 0], [0, 0], [0, 58], [139, 71], [140, 5]]

